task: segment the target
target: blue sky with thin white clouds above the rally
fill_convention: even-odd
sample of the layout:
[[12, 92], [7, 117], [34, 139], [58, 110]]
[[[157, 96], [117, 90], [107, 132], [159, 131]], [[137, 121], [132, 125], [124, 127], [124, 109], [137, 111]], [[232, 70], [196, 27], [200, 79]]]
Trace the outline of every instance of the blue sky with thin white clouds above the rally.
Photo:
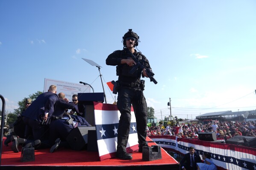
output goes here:
[[[1, 0], [0, 94], [6, 110], [43, 91], [44, 78], [91, 84], [117, 80], [107, 56], [124, 33], [140, 36], [158, 84], [144, 95], [158, 119], [256, 109], [254, 0]], [[114, 95], [105, 86], [108, 103]], [[59, 92], [59, 91], [58, 91]]]

